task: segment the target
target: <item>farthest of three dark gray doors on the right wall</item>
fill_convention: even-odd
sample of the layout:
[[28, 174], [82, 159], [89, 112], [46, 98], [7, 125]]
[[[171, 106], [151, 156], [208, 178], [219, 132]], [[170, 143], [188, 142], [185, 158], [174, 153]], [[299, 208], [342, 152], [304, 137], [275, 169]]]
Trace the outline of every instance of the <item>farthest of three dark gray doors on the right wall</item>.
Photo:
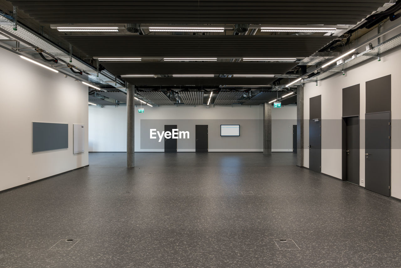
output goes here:
[[322, 162], [322, 128], [320, 119], [309, 120], [309, 169], [320, 172]]

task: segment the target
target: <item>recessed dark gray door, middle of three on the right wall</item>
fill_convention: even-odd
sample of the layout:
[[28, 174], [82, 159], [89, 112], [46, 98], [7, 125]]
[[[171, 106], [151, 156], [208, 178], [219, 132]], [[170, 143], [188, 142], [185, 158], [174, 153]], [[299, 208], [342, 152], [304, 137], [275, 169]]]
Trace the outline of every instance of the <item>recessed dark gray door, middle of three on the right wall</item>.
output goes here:
[[345, 125], [345, 176], [359, 185], [359, 117], [346, 117]]

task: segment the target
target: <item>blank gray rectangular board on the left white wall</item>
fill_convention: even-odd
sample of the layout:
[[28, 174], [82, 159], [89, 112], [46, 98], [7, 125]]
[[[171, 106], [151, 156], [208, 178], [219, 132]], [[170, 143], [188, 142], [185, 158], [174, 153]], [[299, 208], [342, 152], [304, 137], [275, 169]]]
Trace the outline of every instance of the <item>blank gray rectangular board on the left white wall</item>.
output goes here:
[[32, 153], [68, 148], [68, 124], [32, 122]]

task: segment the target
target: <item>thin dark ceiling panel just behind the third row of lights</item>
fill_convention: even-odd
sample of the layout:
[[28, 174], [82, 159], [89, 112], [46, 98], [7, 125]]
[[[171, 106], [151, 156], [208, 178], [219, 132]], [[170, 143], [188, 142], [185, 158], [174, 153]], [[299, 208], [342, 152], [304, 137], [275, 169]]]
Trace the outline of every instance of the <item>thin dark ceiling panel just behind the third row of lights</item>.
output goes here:
[[276, 78], [124, 78], [138, 86], [267, 86]]

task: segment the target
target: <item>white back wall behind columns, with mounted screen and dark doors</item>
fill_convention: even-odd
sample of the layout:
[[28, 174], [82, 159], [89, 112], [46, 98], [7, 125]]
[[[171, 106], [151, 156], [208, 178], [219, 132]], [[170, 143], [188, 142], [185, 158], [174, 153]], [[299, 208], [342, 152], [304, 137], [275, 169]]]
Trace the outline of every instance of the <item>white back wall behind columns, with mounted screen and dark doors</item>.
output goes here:
[[[296, 124], [296, 106], [272, 111], [273, 151], [292, 151], [292, 125]], [[142, 125], [144, 126], [141, 130]], [[277, 119], [277, 120], [276, 120]], [[152, 120], [152, 121], [150, 121]], [[195, 125], [209, 125], [209, 151], [263, 151], [263, 106], [160, 106], [145, 107], [135, 113], [135, 150], [164, 151], [164, 143], [142, 139], [149, 136], [150, 125], [159, 131], [164, 125], [177, 125], [190, 131], [190, 139], [179, 139], [177, 151], [195, 151]], [[89, 151], [126, 151], [126, 106], [89, 107]], [[220, 124], [241, 125], [240, 137], [220, 137]]]

